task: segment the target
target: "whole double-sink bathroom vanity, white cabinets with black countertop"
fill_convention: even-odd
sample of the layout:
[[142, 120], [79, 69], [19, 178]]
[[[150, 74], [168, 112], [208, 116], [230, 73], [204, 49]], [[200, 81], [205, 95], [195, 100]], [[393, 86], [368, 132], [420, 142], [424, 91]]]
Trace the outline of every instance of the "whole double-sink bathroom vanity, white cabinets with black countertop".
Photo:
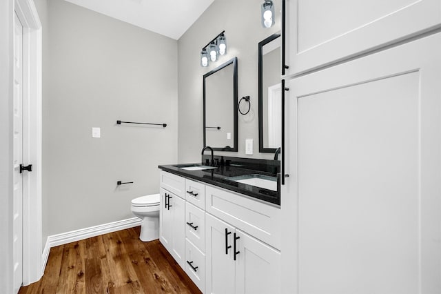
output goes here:
[[278, 161], [159, 166], [160, 241], [203, 293], [280, 293]]

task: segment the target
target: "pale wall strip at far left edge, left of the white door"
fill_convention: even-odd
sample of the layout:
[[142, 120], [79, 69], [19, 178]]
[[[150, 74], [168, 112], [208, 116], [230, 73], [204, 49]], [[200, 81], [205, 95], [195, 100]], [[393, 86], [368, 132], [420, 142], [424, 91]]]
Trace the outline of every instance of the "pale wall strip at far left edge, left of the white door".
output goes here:
[[12, 16], [0, 1], [0, 288], [12, 293]]

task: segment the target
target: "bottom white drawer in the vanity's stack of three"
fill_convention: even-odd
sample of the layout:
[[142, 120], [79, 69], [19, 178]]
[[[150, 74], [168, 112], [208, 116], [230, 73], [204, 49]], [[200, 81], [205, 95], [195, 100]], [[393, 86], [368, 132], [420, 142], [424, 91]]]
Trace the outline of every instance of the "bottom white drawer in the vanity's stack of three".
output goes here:
[[205, 255], [192, 242], [185, 239], [185, 273], [205, 292]]

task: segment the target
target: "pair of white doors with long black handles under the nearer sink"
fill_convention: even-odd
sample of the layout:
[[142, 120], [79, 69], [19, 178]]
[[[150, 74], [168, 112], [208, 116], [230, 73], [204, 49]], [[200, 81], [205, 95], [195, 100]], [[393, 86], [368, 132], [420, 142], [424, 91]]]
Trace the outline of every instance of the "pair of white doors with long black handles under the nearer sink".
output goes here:
[[280, 293], [280, 252], [206, 214], [206, 293]]

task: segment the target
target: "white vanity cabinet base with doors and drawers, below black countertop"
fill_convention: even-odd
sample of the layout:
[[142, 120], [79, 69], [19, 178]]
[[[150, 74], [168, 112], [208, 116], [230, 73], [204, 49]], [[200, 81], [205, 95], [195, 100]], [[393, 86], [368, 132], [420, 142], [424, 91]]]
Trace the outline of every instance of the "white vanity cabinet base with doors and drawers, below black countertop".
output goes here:
[[160, 173], [161, 243], [196, 286], [203, 293], [280, 293], [280, 208]]

